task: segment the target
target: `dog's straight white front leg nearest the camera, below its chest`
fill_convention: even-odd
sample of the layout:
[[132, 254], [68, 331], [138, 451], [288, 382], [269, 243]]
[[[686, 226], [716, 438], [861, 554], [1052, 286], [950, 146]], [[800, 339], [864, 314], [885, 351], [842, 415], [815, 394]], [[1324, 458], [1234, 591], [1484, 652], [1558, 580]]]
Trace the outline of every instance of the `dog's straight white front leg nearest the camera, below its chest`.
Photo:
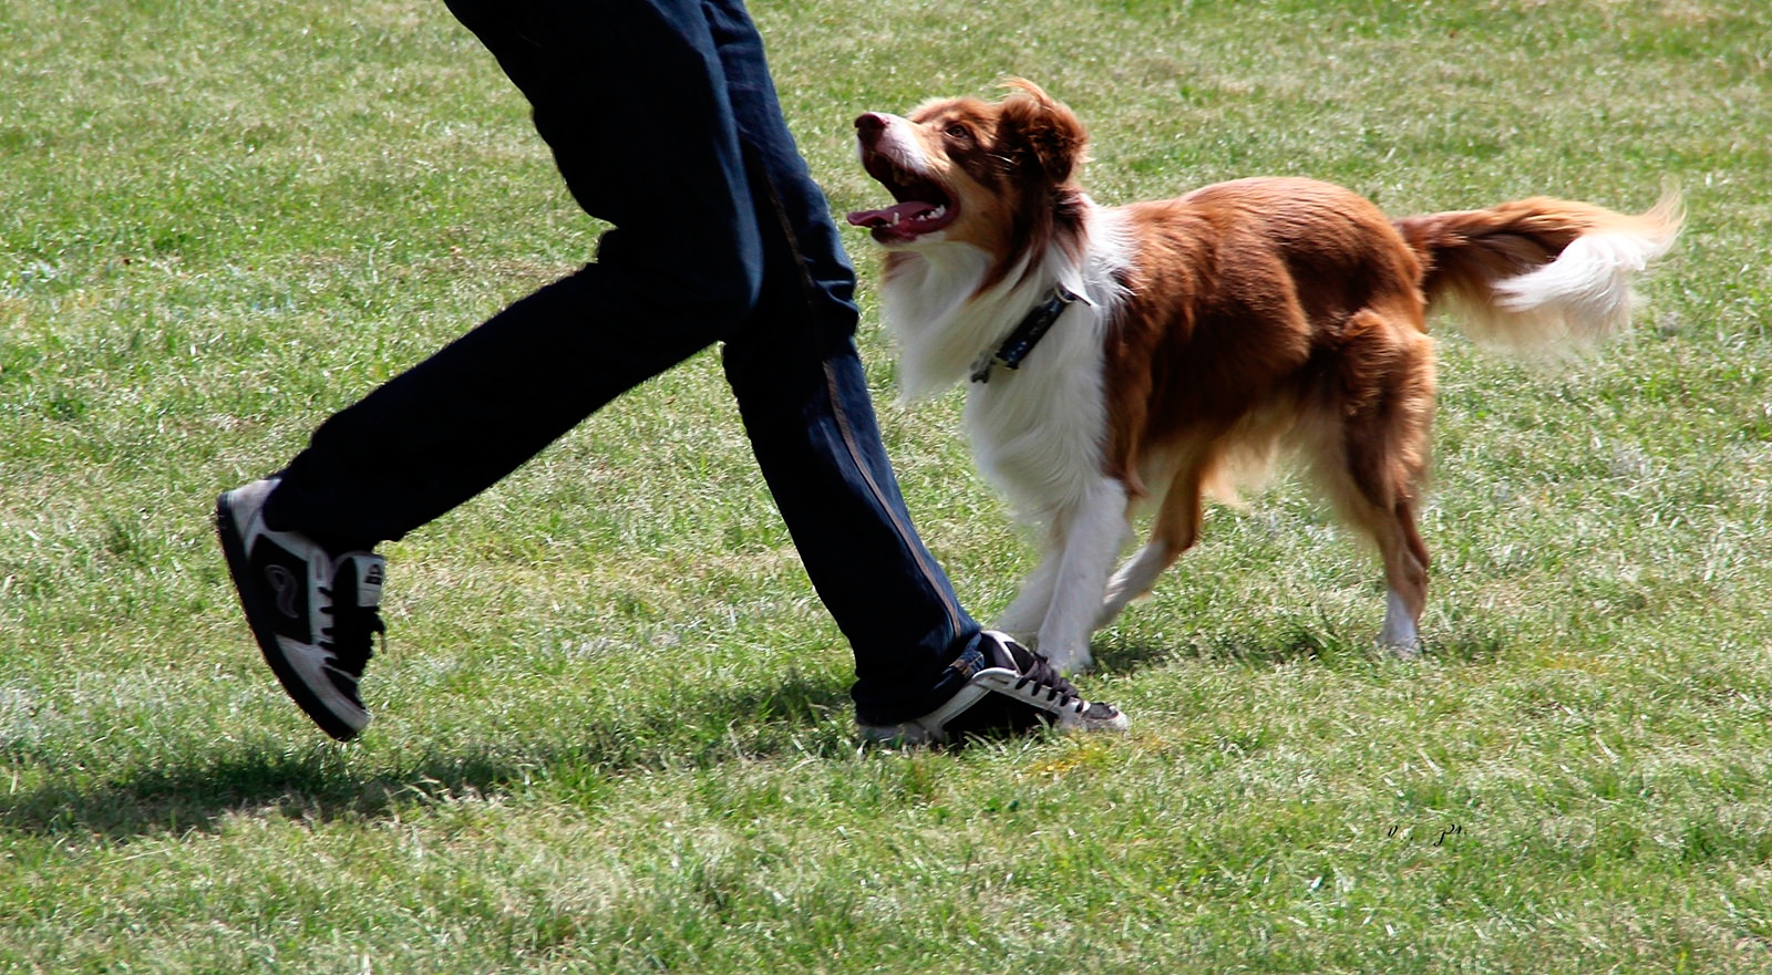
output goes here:
[[1125, 488], [1111, 478], [1095, 478], [1056, 524], [1058, 572], [1040, 621], [1040, 653], [1060, 671], [1079, 672], [1095, 662], [1090, 632], [1108, 591], [1108, 573], [1129, 538]]

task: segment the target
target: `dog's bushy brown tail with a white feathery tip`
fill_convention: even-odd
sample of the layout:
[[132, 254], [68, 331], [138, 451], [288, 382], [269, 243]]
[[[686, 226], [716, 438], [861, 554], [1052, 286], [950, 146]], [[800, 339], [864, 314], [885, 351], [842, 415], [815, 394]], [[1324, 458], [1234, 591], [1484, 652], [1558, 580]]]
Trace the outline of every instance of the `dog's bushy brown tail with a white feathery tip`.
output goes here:
[[1667, 184], [1648, 212], [1533, 196], [1396, 219], [1421, 257], [1432, 306], [1455, 304], [1465, 331], [1517, 350], [1575, 350], [1630, 322], [1630, 280], [1667, 253], [1685, 219]]

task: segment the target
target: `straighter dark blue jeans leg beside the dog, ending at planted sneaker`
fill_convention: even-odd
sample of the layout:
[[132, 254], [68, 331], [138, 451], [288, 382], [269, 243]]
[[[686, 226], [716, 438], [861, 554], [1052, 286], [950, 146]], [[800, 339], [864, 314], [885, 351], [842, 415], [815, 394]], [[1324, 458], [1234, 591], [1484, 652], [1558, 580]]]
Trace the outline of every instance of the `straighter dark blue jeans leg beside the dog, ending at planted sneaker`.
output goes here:
[[766, 258], [758, 308], [727, 340], [727, 379], [801, 561], [854, 649], [858, 715], [904, 720], [934, 706], [943, 667], [978, 625], [898, 492], [852, 342], [854, 271], [781, 119], [757, 32], [737, 0], [707, 5]]

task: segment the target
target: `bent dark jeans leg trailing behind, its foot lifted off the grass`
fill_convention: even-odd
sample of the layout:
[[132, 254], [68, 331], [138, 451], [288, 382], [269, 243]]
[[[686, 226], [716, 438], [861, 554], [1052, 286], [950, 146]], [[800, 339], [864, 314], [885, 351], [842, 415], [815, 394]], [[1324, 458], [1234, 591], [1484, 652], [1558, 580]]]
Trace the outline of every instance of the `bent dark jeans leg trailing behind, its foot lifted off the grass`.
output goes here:
[[693, 0], [452, 0], [535, 106], [597, 260], [340, 411], [282, 472], [273, 527], [400, 538], [750, 317], [760, 242]]

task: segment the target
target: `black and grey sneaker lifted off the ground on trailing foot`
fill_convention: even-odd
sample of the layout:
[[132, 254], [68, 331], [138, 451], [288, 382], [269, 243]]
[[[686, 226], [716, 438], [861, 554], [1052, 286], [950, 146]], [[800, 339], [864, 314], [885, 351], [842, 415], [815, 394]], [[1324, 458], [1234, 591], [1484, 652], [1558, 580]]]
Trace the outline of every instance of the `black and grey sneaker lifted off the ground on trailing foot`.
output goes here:
[[216, 534], [246, 610], [252, 635], [289, 697], [340, 741], [356, 738], [369, 711], [356, 695], [372, 656], [372, 633], [386, 633], [374, 552], [328, 552], [305, 534], [264, 524], [276, 478], [216, 499]]

